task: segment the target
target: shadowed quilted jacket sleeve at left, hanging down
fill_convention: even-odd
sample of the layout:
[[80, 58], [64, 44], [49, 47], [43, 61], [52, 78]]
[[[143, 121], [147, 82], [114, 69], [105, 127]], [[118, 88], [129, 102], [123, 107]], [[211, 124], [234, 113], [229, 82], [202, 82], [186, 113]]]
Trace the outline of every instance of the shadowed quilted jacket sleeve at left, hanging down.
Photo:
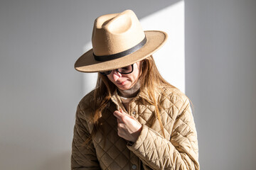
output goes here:
[[85, 145], [85, 140], [89, 137], [90, 133], [84, 113], [84, 111], [81, 111], [80, 106], [78, 106], [72, 143], [72, 170], [100, 169], [92, 142], [89, 145]]

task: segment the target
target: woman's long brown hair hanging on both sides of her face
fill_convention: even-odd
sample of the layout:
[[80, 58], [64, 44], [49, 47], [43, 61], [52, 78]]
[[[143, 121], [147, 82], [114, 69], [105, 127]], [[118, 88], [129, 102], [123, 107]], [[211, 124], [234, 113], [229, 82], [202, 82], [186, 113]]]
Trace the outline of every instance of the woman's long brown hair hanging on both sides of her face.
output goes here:
[[[159, 108], [161, 108], [158, 98], [156, 96], [155, 90], [160, 86], [172, 86], [169, 84], [156, 67], [154, 59], [152, 56], [147, 57], [142, 60], [142, 67], [140, 67], [141, 75], [139, 77], [139, 81], [141, 83], [140, 89], [146, 89], [147, 96], [149, 96], [147, 102], [154, 105], [156, 108], [155, 116], [159, 120], [161, 132], [164, 137], [164, 126], [161, 122], [161, 116], [159, 113]], [[174, 87], [174, 86], [172, 86]], [[94, 91], [94, 101], [95, 101], [95, 112], [93, 116], [94, 128], [89, 138], [85, 141], [85, 143], [90, 142], [92, 137], [95, 136], [96, 132], [100, 130], [100, 117], [104, 109], [107, 107], [111, 94], [116, 89], [116, 86], [104, 75], [98, 74], [97, 85]]]

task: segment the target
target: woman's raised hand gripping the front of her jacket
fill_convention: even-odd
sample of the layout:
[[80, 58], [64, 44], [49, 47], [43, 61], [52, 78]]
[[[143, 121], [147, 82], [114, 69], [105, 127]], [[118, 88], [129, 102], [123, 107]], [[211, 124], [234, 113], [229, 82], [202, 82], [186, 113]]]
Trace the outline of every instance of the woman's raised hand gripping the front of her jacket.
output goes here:
[[114, 111], [114, 116], [117, 118], [117, 134], [131, 142], [136, 142], [140, 133], [142, 132], [142, 124], [140, 124], [134, 117], [120, 111]]

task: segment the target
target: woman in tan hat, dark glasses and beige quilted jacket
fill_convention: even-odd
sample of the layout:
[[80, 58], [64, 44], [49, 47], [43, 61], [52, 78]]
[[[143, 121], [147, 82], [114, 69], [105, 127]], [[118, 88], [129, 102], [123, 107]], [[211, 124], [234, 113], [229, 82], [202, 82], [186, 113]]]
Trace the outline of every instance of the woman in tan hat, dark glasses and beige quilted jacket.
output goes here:
[[189, 100], [151, 56], [166, 38], [130, 10], [95, 20], [92, 50], [75, 63], [99, 74], [78, 105], [72, 169], [199, 169]]

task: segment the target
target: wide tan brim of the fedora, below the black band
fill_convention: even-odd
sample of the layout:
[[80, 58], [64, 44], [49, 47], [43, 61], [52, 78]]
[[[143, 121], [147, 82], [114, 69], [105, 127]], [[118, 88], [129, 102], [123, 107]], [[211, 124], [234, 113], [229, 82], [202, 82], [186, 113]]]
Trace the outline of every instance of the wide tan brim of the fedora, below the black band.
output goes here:
[[105, 72], [107, 70], [125, 67], [152, 55], [164, 45], [168, 37], [164, 31], [160, 30], [146, 30], [144, 33], [146, 35], [146, 44], [136, 52], [118, 59], [99, 62], [94, 59], [93, 50], [91, 49], [85, 52], [85, 54], [75, 62], [75, 69], [78, 70], [78, 72]]

